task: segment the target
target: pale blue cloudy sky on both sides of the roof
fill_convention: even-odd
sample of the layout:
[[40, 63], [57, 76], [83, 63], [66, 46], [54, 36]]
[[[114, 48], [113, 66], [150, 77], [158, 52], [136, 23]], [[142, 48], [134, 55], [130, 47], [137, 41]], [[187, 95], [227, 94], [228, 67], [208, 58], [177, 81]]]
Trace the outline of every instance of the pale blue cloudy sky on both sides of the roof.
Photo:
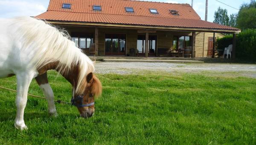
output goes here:
[[[147, 1], [147, 0], [145, 0]], [[166, 3], [189, 3], [192, 0], [148, 0]], [[239, 9], [239, 6], [243, 3], [250, 3], [250, 0], [219, 0], [222, 3], [226, 3]], [[237, 13], [238, 10], [230, 8], [216, 0], [208, 0], [208, 21], [214, 20], [214, 12], [221, 8], [227, 9], [229, 14]], [[49, 0], [0, 0], [0, 18], [15, 17], [15, 16], [36, 16], [47, 10]], [[205, 0], [194, 0], [193, 8], [199, 14], [202, 20], [204, 20], [205, 14]]]

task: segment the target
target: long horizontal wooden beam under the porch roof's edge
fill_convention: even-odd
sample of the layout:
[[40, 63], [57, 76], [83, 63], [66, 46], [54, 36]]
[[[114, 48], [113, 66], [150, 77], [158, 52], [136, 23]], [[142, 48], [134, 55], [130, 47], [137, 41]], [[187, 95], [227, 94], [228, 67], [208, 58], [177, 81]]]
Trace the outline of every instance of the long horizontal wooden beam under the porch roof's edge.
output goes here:
[[216, 32], [216, 33], [240, 33], [241, 30], [233, 30], [233, 29], [210, 29], [210, 28], [185, 28], [185, 27], [171, 27], [171, 26], [146, 26], [146, 25], [131, 25], [131, 24], [111, 24], [111, 23], [88, 23], [88, 22], [69, 22], [69, 21], [48, 21], [47, 23], [52, 24], [68, 24], [74, 26], [98, 26], [102, 28], [120, 28], [120, 29], [156, 29], [163, 31], [195, 31], [195, 32]]

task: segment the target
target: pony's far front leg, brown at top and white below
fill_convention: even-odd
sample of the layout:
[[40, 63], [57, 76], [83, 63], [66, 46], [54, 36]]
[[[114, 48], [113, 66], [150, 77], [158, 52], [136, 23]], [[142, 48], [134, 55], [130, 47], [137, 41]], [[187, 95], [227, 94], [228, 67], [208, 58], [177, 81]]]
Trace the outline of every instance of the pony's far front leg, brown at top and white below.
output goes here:
[[44, 92], [44, 96], [47, 98], [48, 102], [48, 112], [52, 116], [57, 116], [56, 107], [54, 104], [54, 95], [51, 86], [49, 85], [47, 73], [38, 75], [35, 80], [40, 86], [41, 90]]

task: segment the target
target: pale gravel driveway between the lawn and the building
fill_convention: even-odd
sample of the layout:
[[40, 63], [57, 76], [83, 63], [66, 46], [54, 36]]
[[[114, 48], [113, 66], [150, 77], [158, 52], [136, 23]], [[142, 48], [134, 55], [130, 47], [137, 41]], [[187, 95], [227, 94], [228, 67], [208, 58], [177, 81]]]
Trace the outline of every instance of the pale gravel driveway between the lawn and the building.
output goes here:
[[[203, 73], [215, 74], [235, 73], [236, 75], [256, 78], [256, 64], [174, 64], [174, 63], [146, 63], [146, 62], [96, 62], [96, 73], [130, 74], [140, 71], [163, 71], [178, 73]], [[225, 72], [225, 73], [224, 73]]]

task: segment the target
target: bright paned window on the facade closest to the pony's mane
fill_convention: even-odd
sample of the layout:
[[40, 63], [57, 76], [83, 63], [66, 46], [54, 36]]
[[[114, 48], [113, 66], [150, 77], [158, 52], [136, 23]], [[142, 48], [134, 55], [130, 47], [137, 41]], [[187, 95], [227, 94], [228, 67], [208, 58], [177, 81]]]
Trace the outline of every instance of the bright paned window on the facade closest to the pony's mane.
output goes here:
[[80, 49], [89, 49], [90, 44], [93, 43], [93, 38], [79, 38], [79, 37], [72, 37], [73, 42], [75, 42], [76, 47]]

